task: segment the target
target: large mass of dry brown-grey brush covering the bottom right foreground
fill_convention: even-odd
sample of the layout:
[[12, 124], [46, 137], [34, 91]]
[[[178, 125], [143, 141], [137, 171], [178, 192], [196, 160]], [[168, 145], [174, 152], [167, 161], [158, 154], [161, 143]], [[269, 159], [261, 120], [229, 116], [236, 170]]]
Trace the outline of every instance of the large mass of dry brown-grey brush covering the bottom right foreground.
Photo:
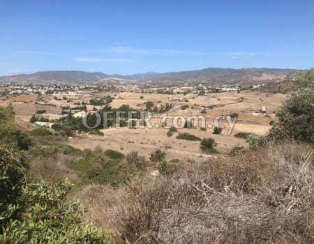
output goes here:
[[309, 148], [269, 145], [196, 176], [140, 178], [114, 215], [120, 242], [314, 243]]

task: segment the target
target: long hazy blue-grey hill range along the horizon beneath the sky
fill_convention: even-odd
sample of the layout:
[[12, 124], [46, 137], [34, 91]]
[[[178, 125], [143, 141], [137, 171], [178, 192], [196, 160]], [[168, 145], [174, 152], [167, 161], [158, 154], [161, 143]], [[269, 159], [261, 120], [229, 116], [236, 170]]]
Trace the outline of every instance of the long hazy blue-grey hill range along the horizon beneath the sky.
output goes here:
[[300, 70], [278, 68], [205, 68], [170, 73], [141, 73], [135, 75], [107, 75], [84, 71], [42, 71], [30, 75], [0, 77], [0, 82], [65, 82], [89, 83], [105, 79], [126, 79], [128, 81], [212, 81], [212, 82], [271, 82], [283, 79], [290, 73]]

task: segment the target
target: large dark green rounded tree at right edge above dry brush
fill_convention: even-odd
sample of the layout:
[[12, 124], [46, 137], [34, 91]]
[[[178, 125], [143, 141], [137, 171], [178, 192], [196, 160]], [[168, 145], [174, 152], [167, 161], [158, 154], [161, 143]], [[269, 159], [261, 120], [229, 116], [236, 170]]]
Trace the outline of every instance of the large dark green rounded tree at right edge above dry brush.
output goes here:
[[290, 95], [276, 114], [269, 132], [271, 139], [314, 142], [314, 90], [299, 89]]

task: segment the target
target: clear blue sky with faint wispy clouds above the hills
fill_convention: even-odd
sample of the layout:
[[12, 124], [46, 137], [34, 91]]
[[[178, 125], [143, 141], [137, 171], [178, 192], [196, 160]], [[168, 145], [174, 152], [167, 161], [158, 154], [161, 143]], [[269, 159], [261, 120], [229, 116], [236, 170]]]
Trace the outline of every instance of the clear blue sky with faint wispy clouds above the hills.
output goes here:
[[314, 1], [0, 0], [0, 75], [314, 66]]

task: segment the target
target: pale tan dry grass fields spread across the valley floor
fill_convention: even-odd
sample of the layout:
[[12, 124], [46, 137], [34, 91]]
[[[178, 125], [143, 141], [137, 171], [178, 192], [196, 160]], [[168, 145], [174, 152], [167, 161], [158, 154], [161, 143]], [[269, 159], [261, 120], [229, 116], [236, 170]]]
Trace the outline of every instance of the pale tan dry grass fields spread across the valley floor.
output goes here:
[[[170, 116], [197, 116], [203, 115], [207, 122], [213, 123], [214, 118], [219, 115], [229, 115], [234, 112], [239, 114], [239, 118], [234, 125], [230, 135], [227, 134], [229, 126], [226, 121], [220, 123], [225, 125], [221, 135], [214, 135], [213, 128], [207, 131], [199, 128], [179, 129], [179, 132], [188, 132], [200, 138], [212, 137], [216, 140], [217, 150], [220, 152], [229, 151], [233, 146], [246, 146], [244, 139], [234, 137], [237, 132], [254, 132], [257, 134], [266, 133], [269, 128], [269, 122], [274, 120], [276, 110], [285, 100], [283, 94], [267, 94], [246, 91], [246, 92], [230, 92], [230, 93], [211, 93], [207, 96], [189, 95], [167, 95], [154, 93], [96, 93], [96, 94], [80, 94], [77, 96], [68, 97], [70, 102], [54, 100], [54, 96], [43, 96], [42, 100], [37, 100], [37, 95], [22, 95], [10, 96], [8, 100], [1, 100], [1, 105], [12, 103], [17, 120], [21, 128], [31, 130], [33, 125], [29, 123], [29, 119], [37, 110], [45, 109], [47, 112], [43, 116], [48, 119], [59, 119], [61, 117], [61, 106], [75, 107], [75, 102], [87, 101], [92, 98], [102, 98], [103, 96], [112, 96], [114, 98], [110, 103], [113, 108], [118, 108], [121, 105], [127, 104], [135, 109], [144, 109], [144, 102], [151, 101], [154, 104], [158, 102], [172, 103], [174, 108], [167, 112]], [[140, 98], [143, 96], [143, 98]], [[62, 96], [60, 96], [62, 97]], [[169, 98], [186, 98], [188, 102], [171, 102]], [[182, 105], [188, 105], [189, 108], [182, 110]], [[202, 107], [213, 106], [207, 109], [206, 114], [201, 114]], [[259, 113], [260, 108], [264, 106], [267, 113]], [[88, 105], [88, 109], [94, 106]], [[102, 106], [96, 106], [100, 109]], [[151, 119], [151, 123], [160, 124], [160, 118]], [[193, 158], [202, 160], [203, 158], [211, 157], [202, 153], [200, 150], [200, 142], [191, 142], [183, 139], [176, 139], [178, 134], [174, 133], [172, 137], [167, 137], [167, 129], [128, 129], [128, 128], [110, 128], [102, 130], [104, 137], [98, 135], [77, 135], [69, 140], [69, 144], [77, 148], [95, 148], [101, 146], [104, 149], [112, 148], [121, 153], [130, 151], [139, 151], [140, 155], [148, 157], [151, 151], [156, 148], [163, 148], [167, 151], [167, 158]]]

